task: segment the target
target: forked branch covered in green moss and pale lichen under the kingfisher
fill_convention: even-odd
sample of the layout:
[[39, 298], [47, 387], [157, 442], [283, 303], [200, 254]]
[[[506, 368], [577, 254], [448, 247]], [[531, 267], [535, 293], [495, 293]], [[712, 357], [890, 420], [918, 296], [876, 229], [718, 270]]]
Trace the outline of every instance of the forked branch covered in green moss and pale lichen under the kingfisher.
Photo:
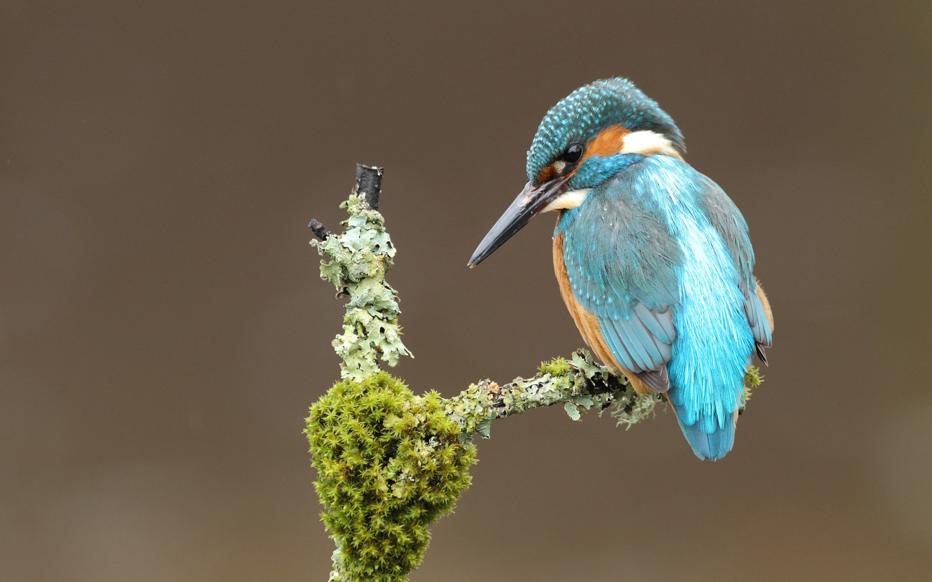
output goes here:
[[[382, 169], [357, 165], [356, 185], [341, 204], [349, 218], [336, 235], [308, 225], [311, 245], [329, 260], [321, 277], [349, 296], [343, 333], [333, 342], [343, 360], [337, 382], [310, 407], [306, 434], [322, 521], [336, 542], [332, 582], [404, 582], [421, 562], [433, 521], [449, 513], [470, 485], [472, 437], [487, 439], [492, 421], [554, 404], [569, 417], [611, 408], [619, 425], [651, 416], [661, 401], [638, 395], [624, 378], [585, 350], [542, 363], [539, 373], [506, 385], [483, 380], [444, 399], [417, 396], [383, 372], [411, 356], [401, 340], [398, 292], [385, 281], [395, 248], [378, 212]], [[757, 368], [746, 378], [761, 383]]]

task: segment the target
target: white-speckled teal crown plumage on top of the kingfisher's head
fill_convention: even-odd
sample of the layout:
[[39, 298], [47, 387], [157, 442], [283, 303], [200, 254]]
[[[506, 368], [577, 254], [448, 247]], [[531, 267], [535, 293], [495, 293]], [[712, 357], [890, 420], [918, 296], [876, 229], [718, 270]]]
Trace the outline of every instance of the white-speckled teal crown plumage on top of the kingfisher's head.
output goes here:
[[528, 150], [528, 181], [561, 156], [570, 143], [589, 142], [598, 132], [620, 125], [663, 135], [683, 155], [686, 143], [673, 118], [623, 77], [584, 85], [557, 102], [541, 120]]

